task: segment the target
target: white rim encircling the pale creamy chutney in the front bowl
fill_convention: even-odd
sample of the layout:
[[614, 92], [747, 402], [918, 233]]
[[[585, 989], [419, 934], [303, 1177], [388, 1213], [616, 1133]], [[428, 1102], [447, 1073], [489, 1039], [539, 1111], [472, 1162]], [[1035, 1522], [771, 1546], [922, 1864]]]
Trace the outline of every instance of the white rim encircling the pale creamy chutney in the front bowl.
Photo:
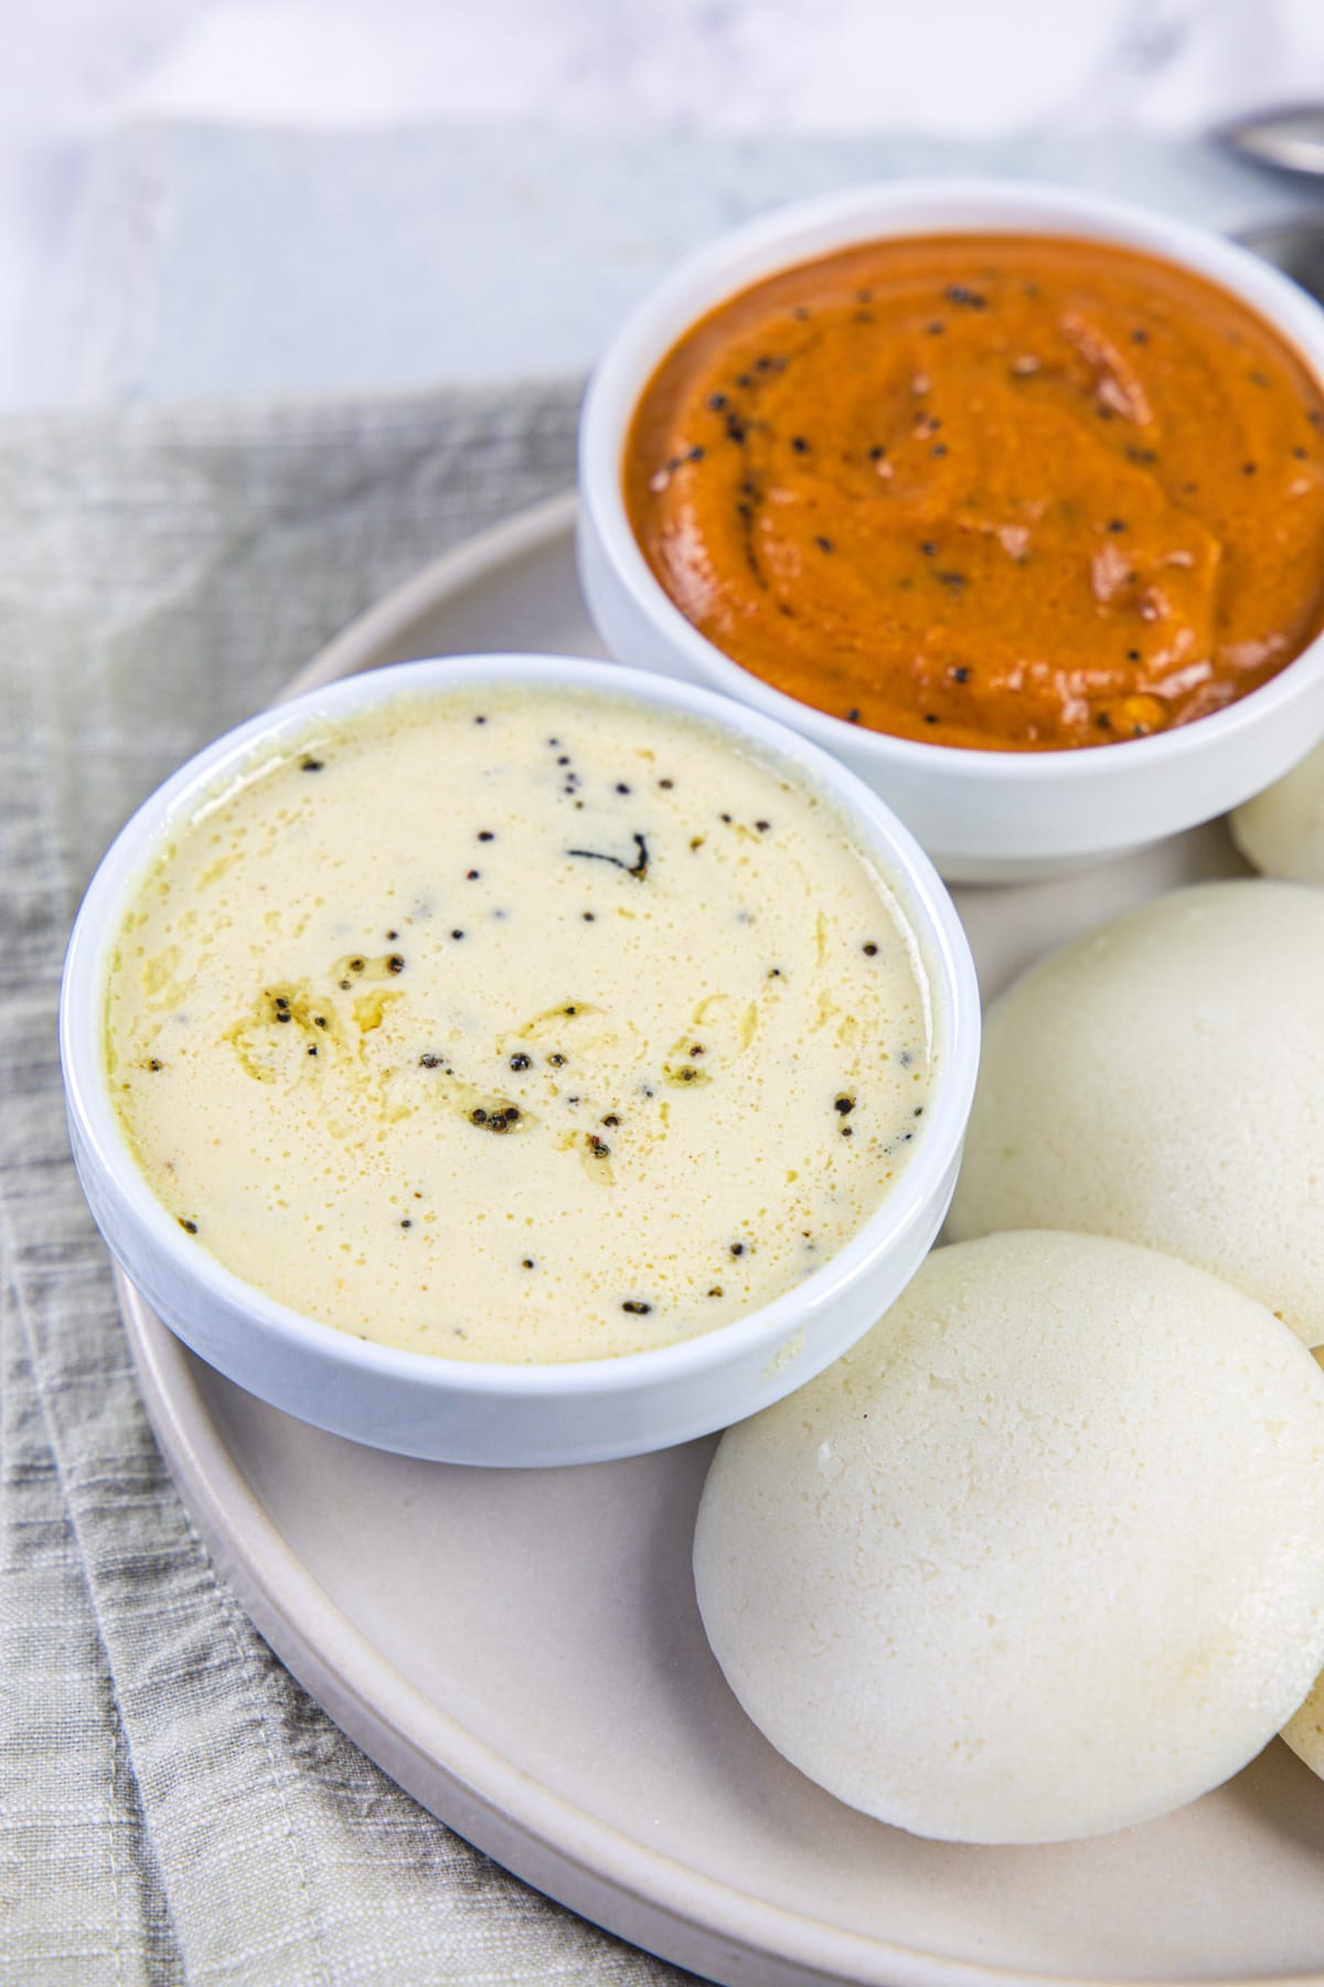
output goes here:
[[[697, 1331], [673, 1345], [578, 1361], [449, 1359], [359, 1339], [337, 1325], [280, 1303], [256, 1284], [226, 1270], [206, 1248], [187, 1238], [151, 1190], [111, 1105], [101, 1057], [101, 1013], [109, 954], [133, 888], [171, 827], [214, 797], [226, 777], [260, 763], [260, 753], [296, 741], [318, 721], [375, 709], [395, 697], [427, 701], [447, 691], [506, 686], [588, 691], [597, 697], [643, 701], [707, 721], [734, 743], [810, 791], [818, 791], [844, 823], [856, 846], [877, 864], [913, 932], [927, 976], [935, 1077], [925, 1099], [925, 1123], [901, 1176], [865, 1222], [826, 1264], [770, 1303], [725, 1325]], [[226, 1311], [246, 1313], [268, 1341], [298, 1355], [322, 1357], [347, 1371], [409, 1381], [437, 1395], [504, 1399], [580, 1399], [679, 1381], [723, 1367], [762, 1347], [780, 1349], [796, 1331], [860, 1278], [867, 1276], [923, 1220], [941, 1192], [965, 1139], [979, 1069], [981, 1005], [975, 962], [929, 856], [891, 809], [830, 753], [806, 743], [774, 719], [719, 691], [679, 684], [645, 670], [564, 656], [490, 654], [447, 656], [339, 678], [236, 725], [195, 753], [119, 831], [101, 858], [77, 910], [60, 988], [60, 1061], [69, 1117], [89, 1160], [113, 1194], [127, 1226], [169, 1262], [195, 1292]]]

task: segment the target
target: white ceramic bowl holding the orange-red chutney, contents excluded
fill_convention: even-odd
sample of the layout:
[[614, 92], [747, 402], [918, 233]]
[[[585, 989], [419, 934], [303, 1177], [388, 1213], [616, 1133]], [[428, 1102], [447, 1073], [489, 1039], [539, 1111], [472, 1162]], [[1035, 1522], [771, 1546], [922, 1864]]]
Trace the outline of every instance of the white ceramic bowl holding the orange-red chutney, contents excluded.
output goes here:
[[836, 753], [897, 811], [955, 882], [1082, 868], [1237, 807], [1324, 737], [1324, 640], [1197, 723], [1124, 745], [965, 751], [863, 731], [723, 656], [653, 578], [629, 529], [621, 457], [653, 370], [723, 298], [778, 268], [889, 234], [1072, 234], [1165, 256], [1243, 298], [1324, 380], [1324, 310], [1205, 229], [1090, 193], [998, 181], [863, 187], [786, 207], [683, 262], [633, 312], [594, 374], [580, 423], [580, 576], [607, 650], [740, 697]]

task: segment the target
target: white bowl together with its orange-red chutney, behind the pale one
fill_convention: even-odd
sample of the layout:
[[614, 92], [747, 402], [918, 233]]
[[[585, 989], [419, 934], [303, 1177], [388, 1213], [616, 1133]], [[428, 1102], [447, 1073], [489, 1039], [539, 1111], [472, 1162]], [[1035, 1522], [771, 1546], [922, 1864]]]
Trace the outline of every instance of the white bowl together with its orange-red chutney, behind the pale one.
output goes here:
[[869, 781], [943, 874], [1120, 854], [1324, 733], [1324, 312], [1221, 236], [994, 181], [685, 262], [607, 348], [580, 570], [623, 662]]

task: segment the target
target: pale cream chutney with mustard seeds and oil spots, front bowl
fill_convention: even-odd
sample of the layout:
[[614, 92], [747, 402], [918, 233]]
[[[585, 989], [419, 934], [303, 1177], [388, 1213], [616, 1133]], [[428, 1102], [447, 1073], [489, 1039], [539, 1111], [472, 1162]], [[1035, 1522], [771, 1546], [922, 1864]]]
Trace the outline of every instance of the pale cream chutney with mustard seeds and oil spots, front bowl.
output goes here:
[[919, 946], [830, 799], [609, 691], [401, 695], [155, 852], [109, 1089], [181, 1228], [449, 1359], [597, 1359], [822, 1268], [907, 1164]]

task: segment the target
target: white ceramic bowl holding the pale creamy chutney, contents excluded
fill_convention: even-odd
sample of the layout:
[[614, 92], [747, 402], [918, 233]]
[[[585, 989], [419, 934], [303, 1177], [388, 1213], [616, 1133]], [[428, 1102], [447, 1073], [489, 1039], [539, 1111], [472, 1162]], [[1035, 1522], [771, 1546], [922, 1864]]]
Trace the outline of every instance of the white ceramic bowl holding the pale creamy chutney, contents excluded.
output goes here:
[[[191, 1242], [151, 1192], [107, 1091], [105, 972], [127, 898], [173, 823], [322, 717], [399, 693], [536, 684], [689, 711], [822, 791], [887, 874], [915, 930], [933, 999], [935, 1081], [913, 1156], [865, 1226], [796, 1290], [717, 1331], [659, 1351], [576, 1365], [437, 1359], [351, 1337], [276, 1303]], [[66, 960], [60, 1055], [83, 1192], [113, 1256], [202, 1359], [276, 1407], [379, 1449], [449, 1462], [560, 1464], [665, 1449], [721, 1429], [812, 1379], [901, 1294], [957, 1178], [979, 1063], [979, 990], [965, 934], [933, 866], [881, 801], [836, 759], [758, 711], [635, 670], [546, 656], [409, 662], [345, 678], [208, 745], [129, 821], [91, 880]]]

